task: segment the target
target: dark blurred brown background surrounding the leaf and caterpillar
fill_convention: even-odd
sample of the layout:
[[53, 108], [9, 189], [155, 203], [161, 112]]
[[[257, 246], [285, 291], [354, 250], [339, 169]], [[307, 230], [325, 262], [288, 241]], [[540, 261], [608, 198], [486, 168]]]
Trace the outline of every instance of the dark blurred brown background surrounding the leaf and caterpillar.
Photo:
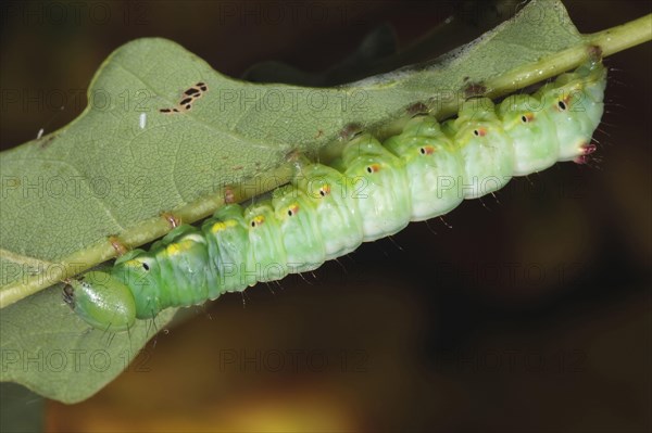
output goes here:
[[[565, 4], [582, 33], [651, 9]], [[497, 16], [486, 4], [426, 1], [0, 9], [2, 149], [76, 117], [100, 63], [134, 38], [173, 39], [234, 77], [271, 60], [323, 77], [383, 24], [402, 49], [457, 13], [460, 24], [409, 55], [343, 67], [330, 74], [337, 80], [431, 59]], [[46, 429], [650, 431], [650, 50], [605, 60], [606, 114], [591, 164], [514, 179], [498, 201], [412, 224], [314, 276], [191, 309], [92, 398], [48, 403]]]

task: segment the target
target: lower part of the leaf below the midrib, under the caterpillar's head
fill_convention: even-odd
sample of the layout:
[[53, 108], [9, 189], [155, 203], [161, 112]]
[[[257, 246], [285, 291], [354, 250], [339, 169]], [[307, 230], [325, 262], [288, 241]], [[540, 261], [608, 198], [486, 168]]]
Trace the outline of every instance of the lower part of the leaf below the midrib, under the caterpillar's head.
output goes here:
[[64, 403], [84, 400], [120, 374], [174, 310], [139, 320], [127, 333], [88, 328], [46, 290], [0, 310], [2, 382], [17, 382]]

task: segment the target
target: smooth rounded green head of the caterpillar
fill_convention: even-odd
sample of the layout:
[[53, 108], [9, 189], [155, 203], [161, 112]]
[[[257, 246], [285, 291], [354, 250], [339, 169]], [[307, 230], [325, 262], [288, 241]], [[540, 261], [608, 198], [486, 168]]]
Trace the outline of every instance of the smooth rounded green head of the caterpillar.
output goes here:
[[82, 320], [103, 331], [126, 331], [136, 320], [131, 291], [108, 272], [90, 271], [71, 280], [63, 298]]

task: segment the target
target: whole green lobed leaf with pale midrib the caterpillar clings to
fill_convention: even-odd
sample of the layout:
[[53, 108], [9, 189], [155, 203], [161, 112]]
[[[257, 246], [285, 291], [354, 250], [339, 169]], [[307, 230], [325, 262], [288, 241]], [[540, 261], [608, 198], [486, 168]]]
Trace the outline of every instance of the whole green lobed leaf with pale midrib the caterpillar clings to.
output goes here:
[[[572, 49], [552, 66], [537, 63]], [[288, 154], [337, 154], [327, 144], [350, 123], [388, 133], [415, 102], [447, 115], [460, 102], [451, 92], [468, 82], [485, 82], [496, 95], [584, 56], [585, 40], [553, 0], [532, 1], [438, 63], [337, 88], [237, 81], [164, 39], [118, 48], [77, 119], [0, 154], [0, 379], [82, 400], [170, 321], [174, 309], [155, 327], [140, 321], [113, 335], [89, 329], [64, 305], [58, 282], [114, 256], [108, 237], [141, 245], [170, 230], [163, 212], [192, 222], [218, 208], [227, 191], [241, 200], [271, 190], [289, 179]], [[208, 90], [185, 111], [183, 93], [199, 82]], [[179, 113], [161, 112], [174, 107]]]

